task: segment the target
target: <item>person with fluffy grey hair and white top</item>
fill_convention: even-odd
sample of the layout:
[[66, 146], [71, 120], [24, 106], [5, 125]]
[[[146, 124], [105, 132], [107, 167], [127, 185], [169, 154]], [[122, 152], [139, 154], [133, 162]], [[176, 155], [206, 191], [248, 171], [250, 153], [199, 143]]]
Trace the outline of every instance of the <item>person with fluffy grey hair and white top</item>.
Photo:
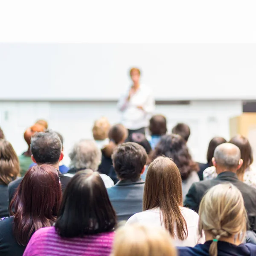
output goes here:
[[[101, 151], [97, 147], [94, 140], [80, 140], [76, 143], [69, 154], [70, 170], [66, 176], [73, 177], [76, 172], [91, 169], [93, 172], [98, 170], [101, 161]], [[108, 175], [100, 174], [105, 183], [106, 188], [114, 186], [113, 180]]]

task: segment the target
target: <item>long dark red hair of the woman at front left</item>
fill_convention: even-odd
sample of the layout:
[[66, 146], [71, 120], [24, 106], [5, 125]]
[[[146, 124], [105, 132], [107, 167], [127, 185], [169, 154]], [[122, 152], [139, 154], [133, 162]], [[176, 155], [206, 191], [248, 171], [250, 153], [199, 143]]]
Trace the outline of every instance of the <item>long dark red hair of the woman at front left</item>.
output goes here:
[[26, 172], [10, 209], [15, 209], [14, 234], [26, 245], [32, 233], [56, 221], [61, 204], [61, 185], [57, 170], [50, 165], [33, 166]]

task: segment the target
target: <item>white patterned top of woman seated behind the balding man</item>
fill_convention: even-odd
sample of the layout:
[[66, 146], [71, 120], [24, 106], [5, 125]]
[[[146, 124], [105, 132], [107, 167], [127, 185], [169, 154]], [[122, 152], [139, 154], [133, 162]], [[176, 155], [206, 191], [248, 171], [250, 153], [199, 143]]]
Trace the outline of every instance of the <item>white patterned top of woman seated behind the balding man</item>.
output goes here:
[[[203, 172], [203, 180], [212, 180], [217, 177], [215, 166], [210, 166]], [[244, 183], [256, 188], [256, 169], [249, 166], [244, 171]]]

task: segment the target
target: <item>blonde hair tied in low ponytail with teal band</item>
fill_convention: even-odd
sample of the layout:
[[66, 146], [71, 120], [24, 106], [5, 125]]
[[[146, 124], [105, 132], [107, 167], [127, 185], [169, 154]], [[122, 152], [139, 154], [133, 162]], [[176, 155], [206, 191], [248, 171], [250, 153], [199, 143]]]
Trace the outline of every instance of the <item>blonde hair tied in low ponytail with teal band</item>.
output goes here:
[[199, 207], [199, 232], [212, 235], [210, 256], [218, 255], [218, 240], [235, 235], [242, 242], [246, 233], [247, 214], [239, 189], [223, 183], [209, 189]]

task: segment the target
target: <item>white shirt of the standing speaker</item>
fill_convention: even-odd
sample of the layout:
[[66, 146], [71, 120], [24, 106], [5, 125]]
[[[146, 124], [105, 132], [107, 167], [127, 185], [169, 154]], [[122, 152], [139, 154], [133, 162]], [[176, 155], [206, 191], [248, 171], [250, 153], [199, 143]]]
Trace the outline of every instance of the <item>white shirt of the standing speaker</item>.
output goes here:
[[[140, 87], [127, 101], [129, 88], [119, 99], [117, 107], [122, 112], [122, 124], [130, 130], [137, 130], [148, 126], [149, 119], [154, 111], [155, 102], [153, 91], [140, 84]], [[137, 108], [142, 106], [143, 110]]]

